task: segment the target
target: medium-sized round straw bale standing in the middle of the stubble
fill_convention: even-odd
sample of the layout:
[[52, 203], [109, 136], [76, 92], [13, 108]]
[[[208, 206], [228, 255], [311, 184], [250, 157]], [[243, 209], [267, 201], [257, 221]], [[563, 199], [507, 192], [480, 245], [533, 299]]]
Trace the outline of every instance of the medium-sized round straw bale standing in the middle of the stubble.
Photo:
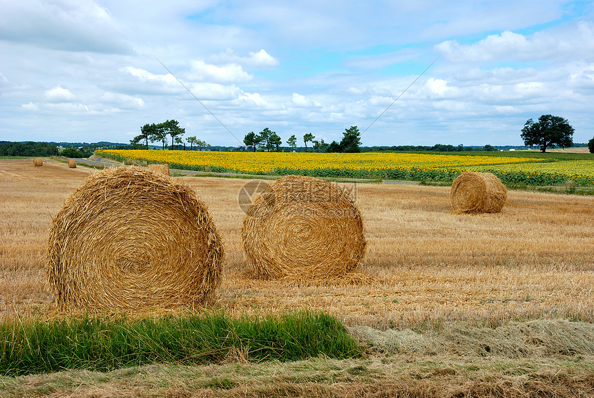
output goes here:
[[287, 176], [269, 185], [247, 210], [242, 245], [261, 278], [344, 276], [365, 254], [363, 219], [336, 185]]

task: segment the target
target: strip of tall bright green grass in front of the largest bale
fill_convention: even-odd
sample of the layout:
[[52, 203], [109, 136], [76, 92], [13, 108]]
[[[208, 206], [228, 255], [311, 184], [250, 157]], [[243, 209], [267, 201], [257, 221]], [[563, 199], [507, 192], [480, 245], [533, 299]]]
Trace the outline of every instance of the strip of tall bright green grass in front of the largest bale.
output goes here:
[[361, 357], [343, 324], [323, 313], [231, 319], [222, 313], [128, 319], [83, 316], [0, 324], [0, 374], [108, 371], [148, 363]]

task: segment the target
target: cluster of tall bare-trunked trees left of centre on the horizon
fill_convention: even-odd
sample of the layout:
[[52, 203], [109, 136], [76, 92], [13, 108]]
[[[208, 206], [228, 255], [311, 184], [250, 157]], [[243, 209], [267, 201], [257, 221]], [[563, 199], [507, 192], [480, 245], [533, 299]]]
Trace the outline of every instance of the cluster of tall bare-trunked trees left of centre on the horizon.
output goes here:
[[130, 144], [134, 148], [148, 149], [148, 142], [160, 142], [162, 144], [162, 149], [165, 149], [169, 137], [171, 137], [171, 150], [173, 150], [174, 144], [178, 144], [178, 146], [183, 144], [185, 151], [186, 142], [190, 144], [190, 151], [193, 149], [194, 145], [200, 148], [210, 146], [210, 144], [196, 138], [195, 135], [187, 137], [186, 141], [182, 140], [182, 136], [185, 133], [186, 129], [180, 127], [180, 122], [177, 120], [166, 120], [165, 122], [158, 124], [145, 124], [140, 128], [140, 134], [130, 140]]

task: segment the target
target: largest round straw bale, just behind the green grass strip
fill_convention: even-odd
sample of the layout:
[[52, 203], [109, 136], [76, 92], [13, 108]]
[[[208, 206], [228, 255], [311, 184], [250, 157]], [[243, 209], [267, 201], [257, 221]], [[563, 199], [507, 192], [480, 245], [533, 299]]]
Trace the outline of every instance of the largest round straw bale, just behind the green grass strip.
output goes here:
[[195, 191], [140, 167], [104, 169], [66, 199], [48, 238], [59, 307], [156, 309], [213, 299], [223, 247]]

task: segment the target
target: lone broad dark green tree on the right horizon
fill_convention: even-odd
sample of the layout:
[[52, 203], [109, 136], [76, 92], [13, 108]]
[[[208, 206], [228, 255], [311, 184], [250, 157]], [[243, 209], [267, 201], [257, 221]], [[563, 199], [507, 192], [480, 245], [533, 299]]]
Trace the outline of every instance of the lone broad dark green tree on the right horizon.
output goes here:
[[524, 145], [536, 145], [542, 153], [547, 148], [568, 148], [573, 145], [573, 127], [560, 116], [542, 115], [538, 122], [528, 119], [521, 129], [521, 138]]

